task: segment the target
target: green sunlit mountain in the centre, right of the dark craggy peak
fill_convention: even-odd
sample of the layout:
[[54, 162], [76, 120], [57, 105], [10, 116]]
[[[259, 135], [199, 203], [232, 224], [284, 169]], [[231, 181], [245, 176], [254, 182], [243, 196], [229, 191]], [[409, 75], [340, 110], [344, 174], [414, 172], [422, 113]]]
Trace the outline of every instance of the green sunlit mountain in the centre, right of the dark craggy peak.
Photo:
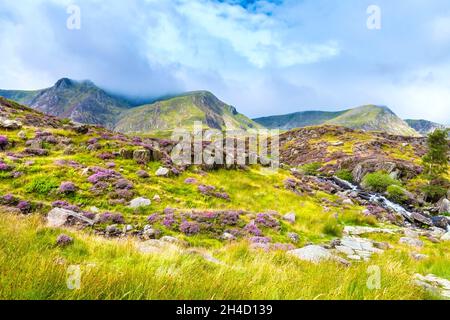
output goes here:
[[250, 129], [260, 127], [236, 109], [207, 91], [189, 92], [128, 110], [115, 129], [120, 132], [151, 132], [192, 128], [202, 121], [210, 128]]

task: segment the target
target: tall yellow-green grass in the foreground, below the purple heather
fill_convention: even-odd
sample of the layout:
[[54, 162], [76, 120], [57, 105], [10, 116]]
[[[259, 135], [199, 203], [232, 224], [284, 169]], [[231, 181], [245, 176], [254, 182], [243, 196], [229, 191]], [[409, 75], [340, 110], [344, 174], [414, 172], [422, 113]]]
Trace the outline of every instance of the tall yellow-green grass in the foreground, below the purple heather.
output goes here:
[[[61, 233], [74, 236], [74, 244], [55, 246]], [[314, 265], [283, 252], [252, 251], [245, 242], [211, 253], [224, 264], [182, 251], [142, 255], [131, 241], [47, 229], [38, 216], [2, 215], [0, 299], [432, 298], [412, 285], [415, 263], [394, 250], [350, 267], [334, 262]], [[432, 267], [419, 269], [448, 269], [442, 258], [435, 259]], [[79, 290], [66, 285], [71, 265], [82, 270]], [[380, 289], [366, 285], [370, 266], [380, 268]]]

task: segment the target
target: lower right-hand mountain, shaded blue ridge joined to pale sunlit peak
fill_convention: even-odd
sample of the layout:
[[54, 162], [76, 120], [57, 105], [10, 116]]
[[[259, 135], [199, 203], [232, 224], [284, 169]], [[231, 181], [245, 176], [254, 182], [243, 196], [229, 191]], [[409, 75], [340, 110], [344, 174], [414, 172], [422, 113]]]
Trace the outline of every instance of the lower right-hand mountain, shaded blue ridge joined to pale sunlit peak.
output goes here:
[[418, 136], [413, 128], [384, 106], [366, 105], [339, 112], [306, 111], [284, 116], [254, 119], [271, 129], [293, 129], [312, 125], [338, 125], [365, 131], [384, 131], [389, 134]]

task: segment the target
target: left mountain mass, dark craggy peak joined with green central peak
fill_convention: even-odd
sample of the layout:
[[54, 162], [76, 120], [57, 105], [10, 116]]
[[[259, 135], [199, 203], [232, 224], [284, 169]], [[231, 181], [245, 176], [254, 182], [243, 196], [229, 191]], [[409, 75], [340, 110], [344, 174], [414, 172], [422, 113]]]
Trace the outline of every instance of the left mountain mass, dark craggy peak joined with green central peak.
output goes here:
[[207, 91], [189, 92], [137, 106], [132, 100], [110, 94], [91, 81], [63, 78], [51, 88], [0, 90], [0, 96], [48, 115], [102, 125], [124, 133], [191, 128], [194, 121], [220, 130], [260, 127]]

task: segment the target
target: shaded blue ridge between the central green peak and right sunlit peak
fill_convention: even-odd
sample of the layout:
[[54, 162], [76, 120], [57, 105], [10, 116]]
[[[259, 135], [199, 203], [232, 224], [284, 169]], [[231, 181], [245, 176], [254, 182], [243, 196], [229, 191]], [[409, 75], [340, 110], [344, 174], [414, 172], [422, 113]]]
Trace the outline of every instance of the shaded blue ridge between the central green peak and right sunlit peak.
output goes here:
[[255, 122], [270, 129], [290, 130], [300, 127], [308, 127], [323, 124], [343, 114], [341, 112], [304, 111], [281, 116], [271, 116], [254, 119]]

